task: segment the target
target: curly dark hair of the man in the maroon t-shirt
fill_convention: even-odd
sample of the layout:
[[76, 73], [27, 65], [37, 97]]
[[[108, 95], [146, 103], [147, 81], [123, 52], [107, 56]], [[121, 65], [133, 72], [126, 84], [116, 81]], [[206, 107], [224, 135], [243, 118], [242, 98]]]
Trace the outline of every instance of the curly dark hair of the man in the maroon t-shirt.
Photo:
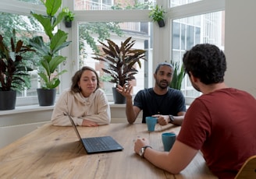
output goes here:
[[219, 47], [213, 44], [197, 44], [183, 55], [185, 71], [191, 72], [204, 84], [224, 81], [226, 57]]

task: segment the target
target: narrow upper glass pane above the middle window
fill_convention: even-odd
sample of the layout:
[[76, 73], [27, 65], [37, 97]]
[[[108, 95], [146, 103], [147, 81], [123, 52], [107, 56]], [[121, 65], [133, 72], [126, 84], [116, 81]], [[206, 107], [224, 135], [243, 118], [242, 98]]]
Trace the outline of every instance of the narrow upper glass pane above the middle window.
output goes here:
[[148, 9], [149, 5], [155, 3], [155, 0], [76, 0], [74, 2], [75, 10], [122, 10], [122, 9]]

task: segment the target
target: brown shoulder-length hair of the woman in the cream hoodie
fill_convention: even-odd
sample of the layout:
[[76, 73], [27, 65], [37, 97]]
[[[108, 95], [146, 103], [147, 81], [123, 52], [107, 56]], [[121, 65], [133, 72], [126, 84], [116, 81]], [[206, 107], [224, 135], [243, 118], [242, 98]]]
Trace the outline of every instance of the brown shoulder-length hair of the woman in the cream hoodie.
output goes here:
[[73, 75], [73, 77], [72, 77], [71, 91], [73, 91], [73, 93], [80, 93], [80, 87], [78, 86], [78, 82], [80, 81], [83, 72], [86, 71], [86, 70], [90, 70], [91, 72], [94, 72], [94, 74], [96, 75], [96, 78], [97, 78], [97, 88], [96, 88], [96, 90], [100, 87], [100, 85], [99, 85], [100, 80], [99, 80], [98, 74], [94, 70], [94, 68], [91, 68], [89, 66], [84, 66], [83, 68], [78, 70], [75, 73], [75, 75]]

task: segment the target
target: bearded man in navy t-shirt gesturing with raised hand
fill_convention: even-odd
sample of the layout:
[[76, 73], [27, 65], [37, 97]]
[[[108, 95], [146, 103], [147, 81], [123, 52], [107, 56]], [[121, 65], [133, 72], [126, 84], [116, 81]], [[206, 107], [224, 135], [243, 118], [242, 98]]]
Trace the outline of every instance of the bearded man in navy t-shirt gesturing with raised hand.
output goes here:
[[173, 67], [169, 63], [160, 63], [155, 69], [155, 87], [140, 90], [132, 100], [133, 86], [118, 86], [119, 93], [126, 97], [126, 117], [130, 124], [136, 121], [140, 111], [143, 111], [142, 122], [145, 118], [155, 116], [159, 125], [172, 123], [181, 125], [186, 113], [185, 99], [180, 90], [169, 87], [172, 81]]

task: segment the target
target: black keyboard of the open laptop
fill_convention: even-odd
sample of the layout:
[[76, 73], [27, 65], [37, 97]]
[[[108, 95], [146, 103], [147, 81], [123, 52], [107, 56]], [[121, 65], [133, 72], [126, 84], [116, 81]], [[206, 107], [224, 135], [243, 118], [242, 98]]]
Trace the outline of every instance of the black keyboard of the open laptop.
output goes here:
[[112, 140], [108, 141], [108, 139], [108, 137], [104, 137], [104, 139], [101, 137], [86, 138], [84, 139], [84, 143], [89, 151], [101, 151], [109, 149], [109, 144]]

